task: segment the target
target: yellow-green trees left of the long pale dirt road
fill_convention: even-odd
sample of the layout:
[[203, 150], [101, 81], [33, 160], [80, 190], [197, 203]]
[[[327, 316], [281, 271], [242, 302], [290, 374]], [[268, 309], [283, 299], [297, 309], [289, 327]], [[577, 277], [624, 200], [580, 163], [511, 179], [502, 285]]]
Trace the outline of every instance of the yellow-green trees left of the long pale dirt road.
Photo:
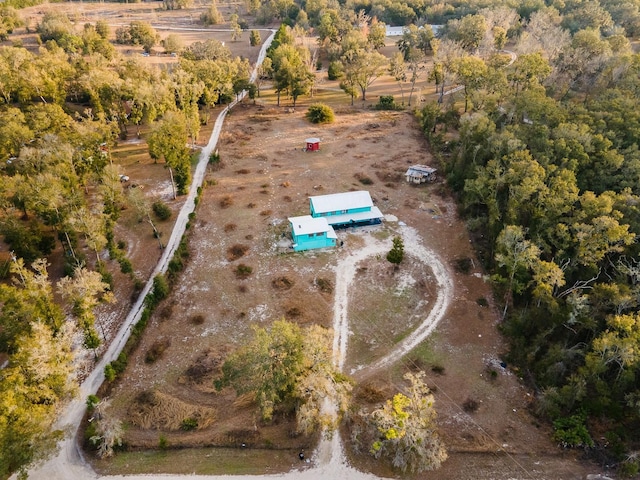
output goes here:
[[[0, 35], [21, 25], [4, 5], [0, 20]], [[113, 300], [114, 267], [103, 252], [142, 284], [114, 226], [129, 207], [155, 231], [158, 209], [139, 189], [124, 189], [111, 149], [150, 125], [151, 157], [166, 162], [186, 193], [187, 144], [249, 76], [248, 62], [215, 40], [183, 49], [166, 71], [120, 56], [105, 22], [77, 26], [53, 11], [37, 34], [37, 53], [0, 46], [0, 234], [11, 252], [0, 284], [0, 357], [8, 358], [0, 370], [0, 478], [43, 458], [62, 435], [52, 426], [76, 391], [74, 342], [97, 352], [105, 339], [94, 310]], [[117, 36], [143, 48], [158, 40], [145, 23]], [[57, 248], [65, 276], [56, 281], [46, 258]]]

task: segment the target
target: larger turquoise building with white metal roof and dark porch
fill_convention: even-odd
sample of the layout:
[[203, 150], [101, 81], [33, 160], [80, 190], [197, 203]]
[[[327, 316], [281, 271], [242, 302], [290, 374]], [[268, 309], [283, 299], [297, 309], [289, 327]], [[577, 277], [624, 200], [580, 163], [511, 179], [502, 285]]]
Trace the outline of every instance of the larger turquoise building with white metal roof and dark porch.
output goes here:
[[336, 228], [376, 225], [384, 217], [365, 190], [309, 197], [309, 207], [312, 217], [326, 218]]

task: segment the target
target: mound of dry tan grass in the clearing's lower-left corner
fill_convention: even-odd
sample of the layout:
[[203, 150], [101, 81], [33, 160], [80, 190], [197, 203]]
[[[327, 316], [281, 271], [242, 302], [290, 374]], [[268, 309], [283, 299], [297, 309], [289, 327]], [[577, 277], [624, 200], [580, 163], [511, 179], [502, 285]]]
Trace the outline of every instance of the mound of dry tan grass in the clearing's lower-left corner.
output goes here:
[[146, 430], [180, 430], [187, 418], [197, 420], [197, 428], [202, 429], [216, 420], [216, 410], [192, 405], [155, 390], [140, 393], [129, 408], [128, 417], [133, 425]]

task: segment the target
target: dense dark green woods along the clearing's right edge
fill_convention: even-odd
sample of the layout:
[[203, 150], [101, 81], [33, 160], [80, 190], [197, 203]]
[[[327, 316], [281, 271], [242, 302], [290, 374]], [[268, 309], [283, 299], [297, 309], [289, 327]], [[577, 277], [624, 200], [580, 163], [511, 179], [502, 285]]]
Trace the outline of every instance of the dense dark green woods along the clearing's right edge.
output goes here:
[[625, 474], [638, 472], [640, 439], [637, 12], [565, 2], [453, 20], [433, 71], [463, 87], [460, 101], [418, 112], [536, 412], [559, 444]]

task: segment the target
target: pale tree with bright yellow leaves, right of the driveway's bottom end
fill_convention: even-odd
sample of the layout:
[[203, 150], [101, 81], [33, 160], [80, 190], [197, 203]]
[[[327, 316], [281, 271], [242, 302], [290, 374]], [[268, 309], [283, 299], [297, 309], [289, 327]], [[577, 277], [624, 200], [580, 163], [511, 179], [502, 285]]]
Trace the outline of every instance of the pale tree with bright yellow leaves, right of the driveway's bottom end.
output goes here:
[[407, 394], [398, 393], [369, 415], [378, 439], [371, 446], [376, 457], [391, 459], [403, 472], [435, 470], [447, 459], [435, 427], [434, 398], [419, 374], [406, 373], [411, 385]]

